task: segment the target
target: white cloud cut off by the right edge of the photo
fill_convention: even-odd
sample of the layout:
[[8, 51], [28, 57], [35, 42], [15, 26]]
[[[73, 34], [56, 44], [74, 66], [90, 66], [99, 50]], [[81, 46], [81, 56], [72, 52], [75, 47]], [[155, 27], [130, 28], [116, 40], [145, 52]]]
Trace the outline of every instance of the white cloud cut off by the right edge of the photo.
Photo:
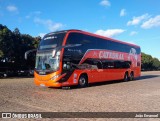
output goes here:
[[154, 18], [150, 18], [141, 25], [143, 29], [149, 29], [158, 26], [160, 26], [160, 15], [157, 15]]

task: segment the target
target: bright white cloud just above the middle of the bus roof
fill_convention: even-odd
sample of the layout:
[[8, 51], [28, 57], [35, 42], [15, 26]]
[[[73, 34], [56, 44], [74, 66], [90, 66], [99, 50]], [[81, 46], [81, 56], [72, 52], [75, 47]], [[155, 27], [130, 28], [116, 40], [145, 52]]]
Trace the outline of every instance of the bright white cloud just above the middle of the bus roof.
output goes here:
[[97, 30], [95, 34], [106, 36], [106, 37], [113, 37], [115, 35], [123, 33], [125, 30], [123, 29], [108, 29], [108, 30]]

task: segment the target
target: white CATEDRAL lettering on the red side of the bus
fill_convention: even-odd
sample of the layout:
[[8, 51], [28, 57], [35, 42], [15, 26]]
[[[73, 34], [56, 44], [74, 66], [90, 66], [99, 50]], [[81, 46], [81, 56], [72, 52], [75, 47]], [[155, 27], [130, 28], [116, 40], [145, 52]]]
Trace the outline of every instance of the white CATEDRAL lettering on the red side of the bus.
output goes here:
[[100, 59], [114, 59], [114, 60], [124, 60], [124, 55], [117, 52], [107, 52], [107, 51], [100, 51], [99, 52]]

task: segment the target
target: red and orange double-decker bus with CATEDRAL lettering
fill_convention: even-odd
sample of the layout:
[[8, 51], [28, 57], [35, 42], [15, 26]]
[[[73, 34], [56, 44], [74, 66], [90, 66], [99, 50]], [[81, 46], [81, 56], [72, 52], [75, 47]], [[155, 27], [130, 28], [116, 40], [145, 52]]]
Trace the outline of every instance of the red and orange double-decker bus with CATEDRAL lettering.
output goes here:
[[46, 34], [36, 53], [34, 82], [63, 87], [111, 80], [133, 80], [141, 74], [141, 50], [134, 44], [81, 30]]

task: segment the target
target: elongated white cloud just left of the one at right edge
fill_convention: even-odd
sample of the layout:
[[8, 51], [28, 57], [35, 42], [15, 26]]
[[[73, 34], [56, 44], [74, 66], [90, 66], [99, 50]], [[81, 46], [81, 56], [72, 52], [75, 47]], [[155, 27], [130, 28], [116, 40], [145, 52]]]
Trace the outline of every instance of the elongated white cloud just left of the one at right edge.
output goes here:
[[138, 25], [140, 24], [143, 20], [148, 19], [150, 16], [148, 13], [143, 14], [141, 16], [138, 17], [133, 17], [131, 21], [128, 21], [127, 25]]

